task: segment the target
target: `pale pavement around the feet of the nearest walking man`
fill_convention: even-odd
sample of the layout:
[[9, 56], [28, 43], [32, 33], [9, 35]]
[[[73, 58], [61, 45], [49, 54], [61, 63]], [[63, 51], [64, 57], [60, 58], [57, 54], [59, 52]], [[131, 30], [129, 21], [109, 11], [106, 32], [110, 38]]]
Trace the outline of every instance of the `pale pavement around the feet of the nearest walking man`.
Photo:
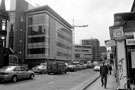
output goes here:
[[[97, 79], [97, 78], [95, 78]], [[114, 74], [108, 75], [107, 88], [101, 86], [101, 78], [99, 77], [93, 83], [89, 84], [87, 88], [82, 90], [117, 90], [118, 83], [116, 83], [116, 78]]]

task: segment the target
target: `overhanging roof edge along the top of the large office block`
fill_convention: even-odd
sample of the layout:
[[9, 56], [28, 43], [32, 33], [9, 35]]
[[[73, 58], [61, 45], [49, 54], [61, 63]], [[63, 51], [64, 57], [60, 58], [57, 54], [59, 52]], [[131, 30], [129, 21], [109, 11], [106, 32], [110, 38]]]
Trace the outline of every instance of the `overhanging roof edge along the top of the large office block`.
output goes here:
[[58, 13], [56, 13], [52, 8], [50, 8], [48, 5], [25, 10], [25, 13], [32, 13], [32, 12], [37, 12], [37, 11], [43, 11], [47, 10], [49, 13], [51, 13], [53, 16], [55, 16], [57, 19], [62, 21], [64, 24], [66, 24], [69, 28], [73, 28], [72, 25], [70, 25], [65, 19], [63, 19]]

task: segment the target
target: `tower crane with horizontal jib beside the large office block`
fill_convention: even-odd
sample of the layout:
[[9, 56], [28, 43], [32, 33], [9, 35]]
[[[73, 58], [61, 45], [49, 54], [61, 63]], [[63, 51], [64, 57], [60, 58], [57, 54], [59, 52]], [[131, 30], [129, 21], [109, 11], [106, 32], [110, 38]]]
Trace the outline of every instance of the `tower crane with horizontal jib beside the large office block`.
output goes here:
[[85, 27], [88, 27], [88, 25], [74, 25], [74, 19], [73, 19], [73, 30], [72, 30], [72, 33], [73, 33], [73, 47], [72, 47], [72, 54], [73, 54], [73, 57], [72, 57], [72, 60], [75, 60], [75, 28], [78, 27], [78, 28], [85, 28]]

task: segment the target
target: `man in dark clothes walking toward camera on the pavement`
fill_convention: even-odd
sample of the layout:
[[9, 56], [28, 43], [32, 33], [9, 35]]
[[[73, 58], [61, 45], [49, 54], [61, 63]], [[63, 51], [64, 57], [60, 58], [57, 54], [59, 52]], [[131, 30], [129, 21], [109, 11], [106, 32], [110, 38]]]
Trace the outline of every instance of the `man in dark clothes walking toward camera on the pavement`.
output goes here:
[[108, 74], [108, 67], [105, 65], [105, 62], [102, 63], [100, 66], [100, 76], [101, 76], [101, 83], [102, 87], [106, 88], [107, 85], [107, 74]]

